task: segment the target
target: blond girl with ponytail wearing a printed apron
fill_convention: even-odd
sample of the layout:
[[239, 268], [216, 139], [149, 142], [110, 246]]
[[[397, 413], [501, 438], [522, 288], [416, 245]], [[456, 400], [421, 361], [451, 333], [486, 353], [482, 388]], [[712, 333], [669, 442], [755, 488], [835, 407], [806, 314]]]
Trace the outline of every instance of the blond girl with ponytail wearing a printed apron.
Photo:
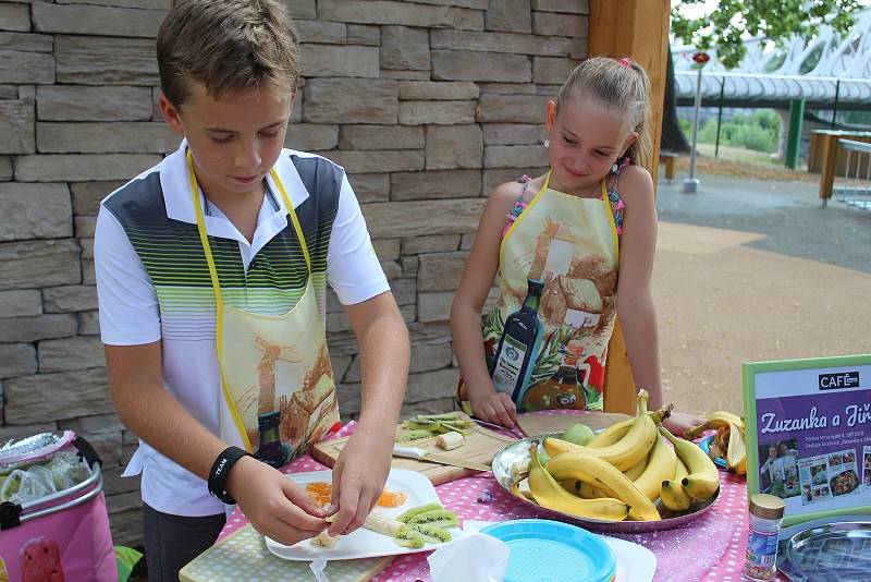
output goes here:
[[[651, 151], [649, 93], [637, 63], [585, 60], [547, 105], [550, 171], [502, 184], [490, 196], [451, 307], [458, 398], [479, 419], [514, 426], [517, 409], [602, 410], [617, 313], [635, 381], [650, 392], [651, 410], [661, 405], [650, 292], [657, 211], [643, 168]], [[478, 323], [496, 271], [500, 296], [482, 342]], [[540, 301], [524, 307], [540, 322], [539, 342], [518, 351], [516, 342], [506, 345], [506, 353], [531, 352], [535, 361], [516, 388], [498, 381], [496, 389], [491, 374], [506, 318], [539, 289]], [[667, 424], [683, 433], [697, 421], [676, 413]]]

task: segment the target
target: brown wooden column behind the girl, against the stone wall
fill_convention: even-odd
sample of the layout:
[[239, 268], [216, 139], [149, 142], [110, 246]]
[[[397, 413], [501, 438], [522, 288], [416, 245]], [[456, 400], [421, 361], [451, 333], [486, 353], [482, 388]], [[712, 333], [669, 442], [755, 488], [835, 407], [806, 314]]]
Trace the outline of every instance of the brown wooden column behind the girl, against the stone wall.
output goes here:
[[[650, 76], [653, 150], [648, 170], [657, 183], [665, 69], [668, 58], [670, 0], [590, 0], [587, 52], [590, 57], [629, 57]], [[605, 410], [635, 413], [635, 381], [617, 319], [605, 367]]]

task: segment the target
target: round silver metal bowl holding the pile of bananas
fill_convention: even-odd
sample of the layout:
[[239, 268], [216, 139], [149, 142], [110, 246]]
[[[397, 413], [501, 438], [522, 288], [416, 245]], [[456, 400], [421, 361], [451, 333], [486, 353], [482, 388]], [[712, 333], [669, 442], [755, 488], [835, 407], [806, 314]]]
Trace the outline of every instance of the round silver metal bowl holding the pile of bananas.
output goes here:
[[[523, 463], [526, 465], [529, 462], [529, 447], [531, 446], [532, 441], [538, 440], [541, 442], [548, 437], [559, 438], [560, 436], [561, 433], [551, 433], [548, 435], [524, 438], [522, 440], [517, 440], [516, 442], [512, 442], [499, 451], [493, 458], [492, 463], [493, 476], [499, 485], [511, 494], [512, 485], [516, 481], [516, 473], [512, 473], [512, 468], [517, 465], [517, 463]], [[720, 489], [717, 489], [710, 499], [706, 499], [704, 501], [695, 501], [688, 511], [682, 513], [670, 511], [665, 507], [662, 507], [658, 500], [655, 506], [662, 516], [662, 520], [660, 521], [603, 521], [590, 518], [581, 518], [571, 513], [563, 513], [562, 511], [554, 511], [552, 509], [543, 508], [540, 505], [530, 501], [529, 499], [520, 496], [514, 496], [514, 494], [512, 494], [512, 496], [515, 497], [519, 502], [526, 504], [531, 510], [541, 516], [559, 521], [578, 523], [588, 530], [603, 533], [643, 533], [679, 528], [680, 525], [685, 525], [700, 516], [703, 516], [711, 509], [711, 507], [713, 507], [714, 501], [716, 501], [716, 498], [720, 496]]]

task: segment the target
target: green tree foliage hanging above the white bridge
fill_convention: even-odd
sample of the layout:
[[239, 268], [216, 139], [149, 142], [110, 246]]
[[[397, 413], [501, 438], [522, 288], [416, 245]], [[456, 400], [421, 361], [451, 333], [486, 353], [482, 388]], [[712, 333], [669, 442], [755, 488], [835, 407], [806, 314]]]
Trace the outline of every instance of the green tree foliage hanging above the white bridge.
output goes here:
[[700, 50], [716, 47], [716, 57], [727, 69], [737, 66], [747, 49], [748, 36], [762, 36], [777, 44], [793, 35], [813, 36], [821, 24], [839, 33], [852, 26], [859, 0], [720, 0], [715, 10], [698, 19], [683, 14], [706, 0], [679, 0], [672, 9], [672, 33]]

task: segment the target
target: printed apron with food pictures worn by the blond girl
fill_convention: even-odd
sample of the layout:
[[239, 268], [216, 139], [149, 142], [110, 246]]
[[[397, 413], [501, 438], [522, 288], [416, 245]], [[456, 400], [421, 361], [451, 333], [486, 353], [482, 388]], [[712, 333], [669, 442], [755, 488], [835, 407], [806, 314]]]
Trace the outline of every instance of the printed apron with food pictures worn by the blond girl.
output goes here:
[[[483, 326], [492, 369], [505, 319], [520, 308], [529, 279], [543, 281], [538, 317], [542, 343], [518, 410], [602, 410], [608, 342], [616, 317], [619, 260], [614, 214], [601, 198], [544, 185], [505, 233], [500, 296]], [[464, 397], [461, 387], [461, 398]]]

